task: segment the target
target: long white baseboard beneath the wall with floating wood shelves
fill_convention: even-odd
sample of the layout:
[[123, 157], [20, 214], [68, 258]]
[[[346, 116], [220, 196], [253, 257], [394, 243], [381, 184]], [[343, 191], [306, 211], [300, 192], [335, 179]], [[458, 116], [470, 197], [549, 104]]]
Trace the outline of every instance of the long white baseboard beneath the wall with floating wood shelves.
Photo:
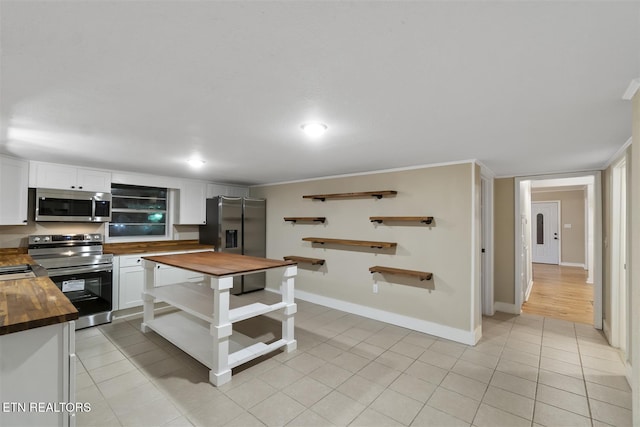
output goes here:
[[[266, 288], [267, 291], [279, 293], [278, 290]], [[438, 323], [428, 322], [426, 320], [416, 319], [397, 313], [371, 308], [360, 304], [354, 304], [334, 298], [324, 297], [322, 295], [312, 294], [296, 289], [295, 297], [303, 301], [312, 302], [314, 304], [330, 307], [335, 310], [344, 311], [358, 316], [367, 317], [369, 319], [379, 320], [403, 328], [412, 329], [414, 331], [423, 332], [425, 334], [434, 335], [462, 344], [475, 345], [482, 337], [482, 326], [478, 326], [475, 331], [465, 331], [463, 329], [452, 328], [450, 326], [440, 325]]]

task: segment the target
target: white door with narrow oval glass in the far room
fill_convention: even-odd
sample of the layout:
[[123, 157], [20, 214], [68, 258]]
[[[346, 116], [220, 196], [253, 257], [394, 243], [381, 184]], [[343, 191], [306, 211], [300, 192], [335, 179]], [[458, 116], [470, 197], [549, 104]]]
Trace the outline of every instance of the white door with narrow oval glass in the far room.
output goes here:
[[531, 202], [531, 260], [560, 263], [558, 202]]

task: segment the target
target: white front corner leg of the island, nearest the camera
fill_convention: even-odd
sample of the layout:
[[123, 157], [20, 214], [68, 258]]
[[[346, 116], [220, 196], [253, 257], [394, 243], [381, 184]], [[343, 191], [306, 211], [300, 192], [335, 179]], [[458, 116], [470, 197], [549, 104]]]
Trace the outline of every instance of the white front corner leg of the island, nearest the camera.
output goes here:
[[233, 277], [211, 277], [213, 289], [213, 365], [209, 371], [209, 382], [220, 386], [231, 380], [229, 368], [229, 337], [232, 325], [229, 321], [229, 290], [233, 288]]

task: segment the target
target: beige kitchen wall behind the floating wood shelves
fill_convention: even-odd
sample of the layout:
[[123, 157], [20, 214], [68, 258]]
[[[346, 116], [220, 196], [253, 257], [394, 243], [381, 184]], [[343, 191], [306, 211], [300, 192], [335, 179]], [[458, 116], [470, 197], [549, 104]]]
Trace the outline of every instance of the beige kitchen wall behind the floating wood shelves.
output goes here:
[[[300, 255], [323, 258], [312, 268], [300, 264], [296, 291], [318, 299], [356, 304], [418, 322], [470, 331], [472, 291], [472, 163], [386, 172], [290, 184], [254, 187], [252, 196], [267, 199], [267, 257]], [[396, 197], [377, 199], [303, 199], [305, 194], [396, 190]], [[435, 218], [433, 226], [413, 223], [376, 225], [369, 216]], [[292, 224], [285, 216], [325, 216], [325, 224]], [[397, 242], [395, 253], [347, 246], [312, 246], [303, 237], [330, 237]], [[424, 289], [408, 286], [400, 276], [372, 276], [382, 265], [433, 273]], [[373, 284], [379, 293], [372, 291]], [[416, 283], [413, 283], [416, 284]], [[418, 282], [417, 284], [420, 284]], [[269, 283], [268, 286], [277, 284]], [[438, 334], [437, 331], [432, 333]]]

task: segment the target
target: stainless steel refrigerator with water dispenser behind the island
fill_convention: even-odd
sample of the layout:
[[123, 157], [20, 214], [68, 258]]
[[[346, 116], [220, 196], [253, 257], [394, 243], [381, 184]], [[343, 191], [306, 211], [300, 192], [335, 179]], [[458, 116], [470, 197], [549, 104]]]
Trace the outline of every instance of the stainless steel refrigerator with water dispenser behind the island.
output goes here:
[[[266, 200], [217, 196], [207, 199], [207, 223], [200, 226], [200, 243], [218, 252], [265, 257]], [[233, 278], [233, 295], [264, 289], [265, 273]]]

